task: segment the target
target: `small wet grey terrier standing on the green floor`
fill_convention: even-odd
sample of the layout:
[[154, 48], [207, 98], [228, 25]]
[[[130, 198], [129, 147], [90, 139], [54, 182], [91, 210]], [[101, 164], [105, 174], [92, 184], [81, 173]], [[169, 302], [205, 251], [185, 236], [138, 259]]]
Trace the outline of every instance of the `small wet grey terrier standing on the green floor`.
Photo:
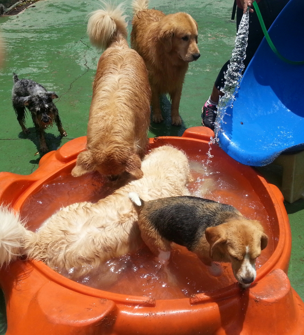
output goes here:
[[58, 109], [53, 103], [53, 99], [58, 98], [55, 92], [47, 91], [42, 85], [30, 79], [18, 79], [14, 73], [14, 86], [12, 91], [12, 103], [17, 120], [24, 134], [29, 134], [29, 129], [25, 128], [25, 106], [31, 112], [36, 133], [40, 136], [40, 151], [47, 152], [48, 147], [45, 142], [45, 129], [56, 123], [61, 136], [67, 136], [63, 129]]

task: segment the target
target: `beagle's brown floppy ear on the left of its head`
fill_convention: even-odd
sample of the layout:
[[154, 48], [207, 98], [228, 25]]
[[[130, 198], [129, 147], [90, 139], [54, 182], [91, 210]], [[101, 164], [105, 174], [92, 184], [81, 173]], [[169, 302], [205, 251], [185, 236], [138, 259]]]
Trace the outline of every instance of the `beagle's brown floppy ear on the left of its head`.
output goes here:
[[205, 230], [205, 237], [207, 242], [210, 244], [209, 256], [213, 260], [225, 260], [225, 254], [222, 247], [227, 242], [226, 237], [221, 232], [218, 226], [208, 227]]

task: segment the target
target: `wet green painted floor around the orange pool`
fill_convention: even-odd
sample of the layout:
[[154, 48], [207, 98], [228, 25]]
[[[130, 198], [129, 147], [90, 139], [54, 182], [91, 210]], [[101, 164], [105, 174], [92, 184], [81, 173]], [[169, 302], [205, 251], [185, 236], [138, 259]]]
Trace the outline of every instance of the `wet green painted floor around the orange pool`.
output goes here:
[[[129, 19], [130, 2], [126, 6]], [[47, 131], [47, 144], [50, 150], [55, 150], [86, 134], [92, 81], [100, 57], [86, 36], [86, 16], [98, 8], [98, 1], [42, 0], [35, 5], [17, 16], [0, 18], [0, 31], [7, 48], [6, 63], [0, 69], [0, 171], [18, 174], [30, 174], [37, 169], [40, 156], [34, 156], [38, 140], [31, 119], [27, 125], [32, 133], [25, 136], [11, 107], [12, 72], [58, 94], [55, 104], [68, 137], [61, 139], [55, 127]], [[202, 104], [234, 45], [236, 23], [230, 20], [232, 5], [233, 0], [150, 0], [150, 7], [167, 14], [186, 11], [193, 16], [199, 26], [201, 54], [197, 62], [190, 64], [185, 78], [180, 104], [182, 126], [171, 126], [170, 104], [163, 98], [166, 120], [161, 125], [151, 124], [150, 137], [182, 135], [186, 128], [200, 125]], [[130, 32], [130, 23], [128, 27]], [[289, 277], [303, 299], [304, 201], [288, 204], [287, 211], [293, 233]]]

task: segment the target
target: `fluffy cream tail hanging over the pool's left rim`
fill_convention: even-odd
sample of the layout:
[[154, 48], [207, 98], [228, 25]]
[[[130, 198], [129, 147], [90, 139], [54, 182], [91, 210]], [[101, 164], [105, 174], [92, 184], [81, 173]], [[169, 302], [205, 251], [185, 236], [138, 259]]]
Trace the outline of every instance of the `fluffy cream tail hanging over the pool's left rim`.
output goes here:
[[27, 235], [19, 215], [0, 206], [0, 268], [22, 255], [22, 239]]

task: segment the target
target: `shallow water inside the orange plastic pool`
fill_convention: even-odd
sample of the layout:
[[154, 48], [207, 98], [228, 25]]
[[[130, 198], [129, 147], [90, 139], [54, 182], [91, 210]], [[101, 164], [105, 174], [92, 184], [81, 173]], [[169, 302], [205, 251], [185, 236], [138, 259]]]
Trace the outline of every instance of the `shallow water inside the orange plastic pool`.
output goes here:
[[[246, 217], [261, 221], [269, 237], [269, 243], [256, 261], [256, 268], [259, 268], [273, 253], [273, 238], [267, 211], [249, 182], [234, 171], [228, 162], [221, 161], [215, 155], [206, 177], [202, 158], [202, 152], [191, 154], [189, 157], [194, 177], [194, 182], [188, 185], [189, 191], [194, 196], [231, 204]], [[28, 198], [22, 207], [21, 217], [27, 217], [28, 225], [32, 230], [36, 230], [60, 207], [81, 201], [96, 202], [120, 186], [119, 182], [107, 182], [98, 173], [79, 178], [62, 176], [44, 185]], [[148, 248], [143, 246], [136, 254], [111, 259], [77, 281], [115, 293], [177, 299], [236, 282], [231, 265], [222, 263], [221, 266], [223, 274], [214, 277], [196, 255], [178, 245], [173, 245], [169, 262], [161, 264]], [[69, 277], [68, 273], [55, 270]]]

